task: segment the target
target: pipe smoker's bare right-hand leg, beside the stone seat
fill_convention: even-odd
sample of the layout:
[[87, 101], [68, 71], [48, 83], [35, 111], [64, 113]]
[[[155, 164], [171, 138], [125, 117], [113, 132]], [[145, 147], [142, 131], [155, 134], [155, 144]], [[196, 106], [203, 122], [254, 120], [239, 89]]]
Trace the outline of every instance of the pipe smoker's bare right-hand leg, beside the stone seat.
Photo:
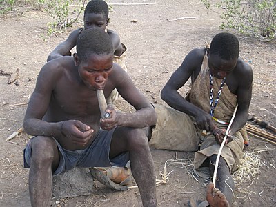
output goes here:
[[143, 129], [115, 130], [110, 146], [110, 159], [126, 151], [130, 154], [131, 171], [139, 188], [143, 206], [156, 206], [154, 164], [148, 138]]

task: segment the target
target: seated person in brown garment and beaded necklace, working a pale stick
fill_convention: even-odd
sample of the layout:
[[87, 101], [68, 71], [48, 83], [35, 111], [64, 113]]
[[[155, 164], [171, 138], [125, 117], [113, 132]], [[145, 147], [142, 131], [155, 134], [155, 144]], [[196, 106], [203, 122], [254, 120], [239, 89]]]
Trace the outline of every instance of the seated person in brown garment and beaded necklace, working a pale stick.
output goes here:
[[[188, 79], [192, 86], [184, 98], [178, 90]], [[196, 48], [189, 52], [164, 86], [161, 98], [172, 108], [155, 106], [158, 119], [150, 144], [169, 150], [197, 151], [199, 148], [195, 154], [195, 169], [206, 166], [213, 176], [220, 144], [238, 104], [219, 159], [217, 188], [220, 191], [217, 195], [220, 197], [210, 196], [213, 186], [209, 185], [207, 200], [210, 206], [232, 203], [235, 184], [230, 172], [237, 169], [242, 159], [246, 139], [242, 129], [247, 121], [252, 82], [252, 69], [239, 59], [237, 37], [219, 33], [213, 38], [210, 49]], [[162, 121], [164, 114], [166, 121]], [[162, 123], [170, 123], [172, 127], [162, 126]]]

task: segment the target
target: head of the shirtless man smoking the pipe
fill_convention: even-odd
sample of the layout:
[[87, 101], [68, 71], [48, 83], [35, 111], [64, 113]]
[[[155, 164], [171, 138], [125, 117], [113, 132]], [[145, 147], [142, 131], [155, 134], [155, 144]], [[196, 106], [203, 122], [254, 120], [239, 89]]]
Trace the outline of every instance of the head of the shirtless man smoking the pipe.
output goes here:
[[104, 88], [112, 72], [113, 46], [109, 35], [101, 28], [83, 30], [77, 39], [75, 66], [88, 88]]

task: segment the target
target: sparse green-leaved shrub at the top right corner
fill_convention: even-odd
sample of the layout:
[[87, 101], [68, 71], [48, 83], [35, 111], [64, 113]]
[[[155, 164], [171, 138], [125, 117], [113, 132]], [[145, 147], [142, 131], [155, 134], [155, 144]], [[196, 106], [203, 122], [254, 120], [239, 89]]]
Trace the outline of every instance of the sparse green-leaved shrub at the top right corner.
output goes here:
[[[234, 29], [262, 41], [276, 39], [275, 0], [201, 0], [206, 8], [219, 9], [221, 29]], [[217, 8], [217, 9], [215, 9]]]

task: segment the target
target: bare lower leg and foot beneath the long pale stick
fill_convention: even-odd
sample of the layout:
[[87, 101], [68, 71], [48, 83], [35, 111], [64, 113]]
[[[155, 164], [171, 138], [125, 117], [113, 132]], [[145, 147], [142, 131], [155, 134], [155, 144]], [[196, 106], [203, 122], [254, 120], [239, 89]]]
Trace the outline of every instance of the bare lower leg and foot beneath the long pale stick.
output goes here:
[[[210, 164], [209, 164], [209, 169], [210, 169], [210, 174], [214, 174], [215, 170], [215, 162], [217, 159], [217, 155], [212, 155], [210, 157]], [[209, 204], [210, 206], [229, 206], [229, 204], [232, 204], [232, 199], [233, 199], [233, 192], [235, 189], [235, 184], [234, 180], [230, 174], [230, 170], [228, 168], [228, 165], [226, 164], [226, 161], [224, 160], [223, 157], [219, 158], [219, 167], [217, 168], [217, 180], [216, 180], [216, 188], [219, 189], [219, 195], [224, 195], [226, 199], [219, 199], [220, 197], [214, 197], [217, 200], [219, 199], [219, 203], [214, 203], [216, 205], [210, 204], [212, 202], [210, 200]], [[209, 197], [211, 199], [211, 197]]]

